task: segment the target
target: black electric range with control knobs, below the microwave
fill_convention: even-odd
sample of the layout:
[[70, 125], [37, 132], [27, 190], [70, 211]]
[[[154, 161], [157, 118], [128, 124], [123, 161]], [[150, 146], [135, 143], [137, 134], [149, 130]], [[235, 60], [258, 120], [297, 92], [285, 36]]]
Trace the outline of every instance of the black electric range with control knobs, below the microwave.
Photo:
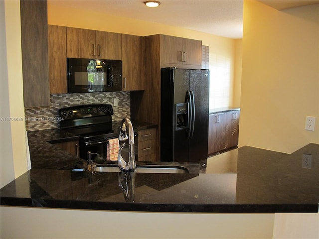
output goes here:
[[59, 110], [61, 135], [79, 135], [80, 157], [87, 159], [87, 152], [97, 153], [92, 159], [106, 159], [108, 140], [117, 138], [120, 122], [113, 122], [113, 108], [108, 104], [82, 105]]

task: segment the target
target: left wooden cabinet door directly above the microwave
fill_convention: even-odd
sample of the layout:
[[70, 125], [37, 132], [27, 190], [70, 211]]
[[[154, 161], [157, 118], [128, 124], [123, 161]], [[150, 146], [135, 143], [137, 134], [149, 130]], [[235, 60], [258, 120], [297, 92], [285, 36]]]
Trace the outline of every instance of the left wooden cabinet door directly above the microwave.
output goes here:
[[96, 58], [95, 31], [81, 28], [66, 28], [67, 57]]

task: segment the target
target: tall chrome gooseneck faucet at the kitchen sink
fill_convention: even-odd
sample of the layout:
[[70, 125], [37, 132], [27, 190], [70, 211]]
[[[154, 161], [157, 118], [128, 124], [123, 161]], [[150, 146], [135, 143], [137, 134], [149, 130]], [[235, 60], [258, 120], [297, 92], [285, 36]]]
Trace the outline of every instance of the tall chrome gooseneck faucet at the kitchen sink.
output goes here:
[[[127, 127], [129, 128], [129, 135], [126, 132]], [[124, 141], [129, 139], [129, 160], [126, 162], [122, 155], [121, 150], [124, 148], [125, 143], [123, 143], [120, 147], [118, 154], [118, 165], [122, 172], [135, 172], [136, 171], [136, 161], [135, 161], [135, 148], [134, 148], [134, 129], [131, 120], [126, 117], [122, 123], [120, 129], [119, 140]]]

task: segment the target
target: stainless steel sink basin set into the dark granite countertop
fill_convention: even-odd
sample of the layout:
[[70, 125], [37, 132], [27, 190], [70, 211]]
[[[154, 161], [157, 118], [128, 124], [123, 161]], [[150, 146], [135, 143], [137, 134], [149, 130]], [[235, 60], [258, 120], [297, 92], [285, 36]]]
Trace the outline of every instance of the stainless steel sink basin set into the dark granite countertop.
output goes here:
[[[72, 171], [83, 171], [83, 168], [72, 169]], [[97, 164], [96, 172], [120, 172], [117, 164]], [[188, 169], [182, 166], [167, 165], [137, 165], [137, 173], [189, 173]]]

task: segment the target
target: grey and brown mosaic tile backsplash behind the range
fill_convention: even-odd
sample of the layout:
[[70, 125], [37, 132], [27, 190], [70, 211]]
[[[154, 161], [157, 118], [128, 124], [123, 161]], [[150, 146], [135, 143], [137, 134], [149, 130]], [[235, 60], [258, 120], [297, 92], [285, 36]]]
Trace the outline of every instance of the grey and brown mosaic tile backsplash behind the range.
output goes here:
[[[118, 106], [113, 106], [113, 99], [118, 99]], [[52, 94], [50, 95], [49, 107], [25, 108], [25, 125], [27, 131], [35, 131], [50, 128], [59, 128], [58, 117], [61, 108], [90, 105], [110, 104], [113, 106], [114, 115], [112, 120], [121, 120], [130, 117], [131, 100], [130, 92], [97, 92], [97, 93], [75, 93], [75, 94]]]

